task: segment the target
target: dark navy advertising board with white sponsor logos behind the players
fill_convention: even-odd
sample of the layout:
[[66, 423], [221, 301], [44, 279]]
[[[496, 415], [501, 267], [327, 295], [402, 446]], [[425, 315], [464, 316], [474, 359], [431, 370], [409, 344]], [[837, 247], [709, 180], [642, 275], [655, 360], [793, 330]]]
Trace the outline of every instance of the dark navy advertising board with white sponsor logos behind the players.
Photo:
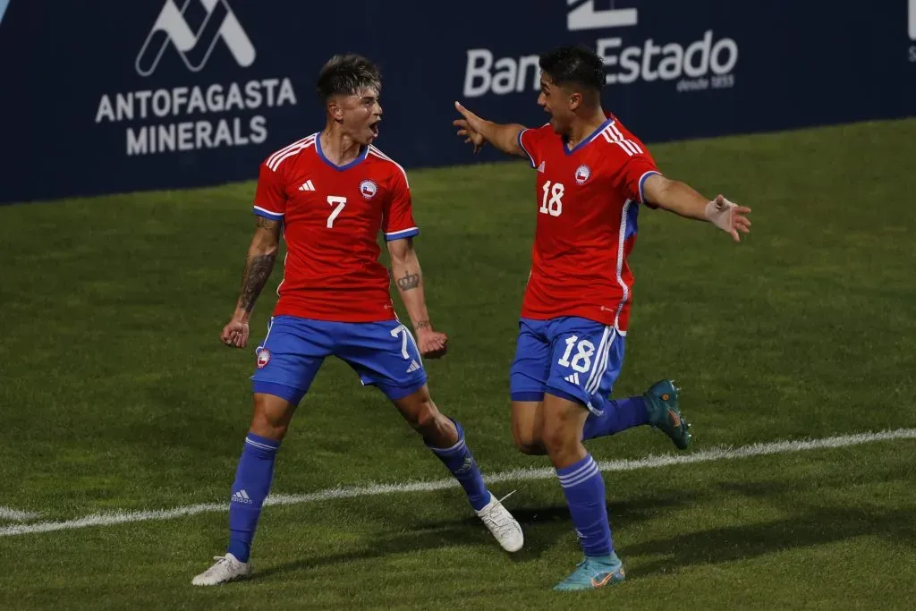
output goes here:
[[385, 77], [378, 147], [466, 163], [453, 101], [540, 125], [538, 55], [564, 43], [605, 58], [647, 142], [916, 115], [916, 0], [11, 0], [0, 202], [252, 179], [322, 127], [315, 77], [348, 51]]

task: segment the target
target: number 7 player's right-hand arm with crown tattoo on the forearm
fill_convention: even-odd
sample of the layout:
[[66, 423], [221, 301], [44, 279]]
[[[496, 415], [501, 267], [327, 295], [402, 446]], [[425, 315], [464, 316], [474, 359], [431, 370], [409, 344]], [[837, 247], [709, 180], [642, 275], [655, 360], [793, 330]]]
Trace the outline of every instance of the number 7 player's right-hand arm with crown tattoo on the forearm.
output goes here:
[[420, 355], [426, 358], [445, 355], [448, 337], [445, 333], [438, 333], [432, 329], [430, 313], [426, 310], [426, 297], [423, 294], [423, 272], [420, 269], [417, 251], [413, 249], [413, 239], [388, 242], [388, 253], [391, 255], [391, 274], [395, 278], [401, 300], [417, 333]]

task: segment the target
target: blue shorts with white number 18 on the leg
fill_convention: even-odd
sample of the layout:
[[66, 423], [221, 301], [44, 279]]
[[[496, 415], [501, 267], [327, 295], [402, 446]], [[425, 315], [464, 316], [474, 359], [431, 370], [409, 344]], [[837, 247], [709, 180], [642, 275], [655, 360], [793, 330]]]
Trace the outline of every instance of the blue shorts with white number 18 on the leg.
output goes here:
[[601, 414], [624, 361], [624, 336], [614, 327], [574, 316], [518, 322], [509, 373], [513, 401], [568, 398]]

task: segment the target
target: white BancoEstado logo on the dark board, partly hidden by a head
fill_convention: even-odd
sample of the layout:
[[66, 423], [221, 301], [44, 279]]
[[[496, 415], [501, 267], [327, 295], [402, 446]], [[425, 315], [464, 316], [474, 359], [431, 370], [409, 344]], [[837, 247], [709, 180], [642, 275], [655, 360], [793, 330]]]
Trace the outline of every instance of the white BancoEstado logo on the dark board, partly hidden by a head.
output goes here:
[[[575, 5], [579, 0], [567, 0]], [[566, 27], [571, 31], [634, 27], [636, 8], [597, 10], [595, 0], [586, 0], [567, 13]], [[911, 0], [916, 2], [916, 0]], [[657, 43], [648, 38], [638, 45], [627, 45], [622, 36], [598, 38], [598, 55], [604, 58], [608, 84], [637, 81], [676, 82], [679, 92], [724, 89], [735, 85], [733, 71], [738, 62], [738, 45], [732, 38], [717, 37], [712, 29], [686, 44]], [[504, 95], [540, 88], [537, 55], [496, 59], [489, 49], [468, 49], [464, 69], [464, 96], [486, 93]]]

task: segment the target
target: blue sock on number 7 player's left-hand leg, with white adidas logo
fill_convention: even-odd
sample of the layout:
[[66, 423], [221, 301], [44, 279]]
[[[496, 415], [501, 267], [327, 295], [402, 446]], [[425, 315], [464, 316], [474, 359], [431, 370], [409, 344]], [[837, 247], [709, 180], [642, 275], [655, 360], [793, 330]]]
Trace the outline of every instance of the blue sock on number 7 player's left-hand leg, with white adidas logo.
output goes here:
[[248, 562], [251, 541], [255, 538], [261, 505], [274, 478], [274, 458], [280, 442], [248, 433], [245, 448], [235, 471], [232, 500], [229, 503], [229, 553]]

